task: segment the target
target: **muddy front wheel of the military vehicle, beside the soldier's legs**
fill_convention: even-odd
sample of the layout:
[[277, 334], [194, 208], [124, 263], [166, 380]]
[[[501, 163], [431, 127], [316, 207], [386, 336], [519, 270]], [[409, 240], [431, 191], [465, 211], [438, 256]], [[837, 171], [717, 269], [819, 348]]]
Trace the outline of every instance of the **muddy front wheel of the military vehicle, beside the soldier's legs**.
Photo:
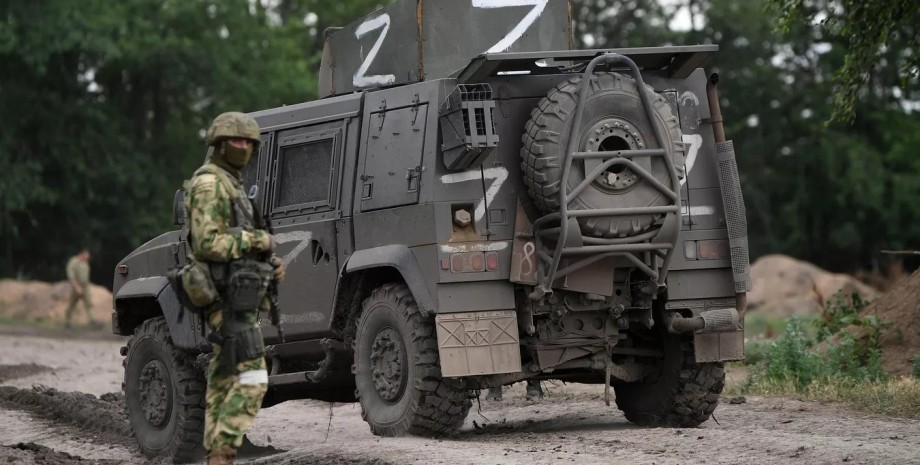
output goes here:
[[128, 341], [122, 389], [141, 452], [186, 463], [202, 457], [207, 380], [195, 358], [176, 348], [163, 317]]

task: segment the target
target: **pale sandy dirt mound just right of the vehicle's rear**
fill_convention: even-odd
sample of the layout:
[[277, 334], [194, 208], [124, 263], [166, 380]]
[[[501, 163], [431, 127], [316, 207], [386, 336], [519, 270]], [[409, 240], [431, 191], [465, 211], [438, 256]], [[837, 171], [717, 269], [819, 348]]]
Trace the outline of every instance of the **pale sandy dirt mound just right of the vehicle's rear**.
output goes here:
[[819, 315], [821, 303], [837, 292], [867, 300], [878, 291], [845, 274], [831, 273], [786, 255], [765, 255], [751, 265], [748, 308], [771, 316]]

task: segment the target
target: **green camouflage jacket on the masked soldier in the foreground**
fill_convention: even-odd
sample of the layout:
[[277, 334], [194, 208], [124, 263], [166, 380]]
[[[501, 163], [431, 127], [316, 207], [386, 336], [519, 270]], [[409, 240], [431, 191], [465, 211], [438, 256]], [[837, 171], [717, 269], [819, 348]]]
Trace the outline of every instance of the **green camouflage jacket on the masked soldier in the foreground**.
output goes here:
[[[206, 164], [206, 171], [223, 170], [213, 163]], [[189, 225], [189, 243], [196, 260], [206, 262], [229, 262], [245, 257], [256, 244], [270, 241], [268, 232], [262, 229], [237, 229], [234, 223], [233, 202], [235, 195], [242, 195], [239, 182], [232, 174], [226, 179], [236, 185], [228, 186], [220, 177], [212, 173], [199, 172], [188, 185], [185, 200], [187, 224]], [[246, 199], [245, 201], [248, 201]]]

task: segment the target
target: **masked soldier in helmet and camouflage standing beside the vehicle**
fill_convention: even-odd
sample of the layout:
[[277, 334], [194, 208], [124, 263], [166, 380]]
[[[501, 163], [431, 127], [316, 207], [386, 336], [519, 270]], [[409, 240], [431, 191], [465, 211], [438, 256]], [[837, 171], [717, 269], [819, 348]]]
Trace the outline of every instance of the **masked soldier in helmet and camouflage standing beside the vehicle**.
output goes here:
[[206, 134], [205, 164], [188, 185], [186, 215], [192, 260], [206, 263], [220, 297], [204, 315], [214, 357], [208, 367], [204, 447], [208, 465], [232, 464], [268, 388], [259, 310], [272, 279], [284, 278], [271, 234], [243, 192], [241, 170], [260, 141], [242, 113], [223, 113]]

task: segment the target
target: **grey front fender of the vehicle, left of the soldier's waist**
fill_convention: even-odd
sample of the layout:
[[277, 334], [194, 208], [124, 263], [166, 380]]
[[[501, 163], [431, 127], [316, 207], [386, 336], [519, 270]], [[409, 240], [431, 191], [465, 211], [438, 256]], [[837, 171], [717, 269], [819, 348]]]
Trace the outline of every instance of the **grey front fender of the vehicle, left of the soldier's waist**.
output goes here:
[[[156, 276], [152, 278], [138, 278], [128, 281], [115, 294], [115, 315], [114, 323], [118, 334], [124, 334], [123, 331], [131, 331], [133, 326], [125, 323], [140, 321], [152, 318], [155, 314], [136, 315], [132, 314], [139, 311], [136, 307], [129, 304], [134, 300], [156, 301], [160, 313], [166, 318], [166, 324], [169, 327], [169, 335], [172, 337], [176, 347], [182, 349], [206, 350], [207, 342], [201, 336], [201, 319], [192, 312], [185, 311], [179, 302], [179, 297], [169, 280], [165, 276]], [[128, 333], [130, 334], [130, 332]]]

